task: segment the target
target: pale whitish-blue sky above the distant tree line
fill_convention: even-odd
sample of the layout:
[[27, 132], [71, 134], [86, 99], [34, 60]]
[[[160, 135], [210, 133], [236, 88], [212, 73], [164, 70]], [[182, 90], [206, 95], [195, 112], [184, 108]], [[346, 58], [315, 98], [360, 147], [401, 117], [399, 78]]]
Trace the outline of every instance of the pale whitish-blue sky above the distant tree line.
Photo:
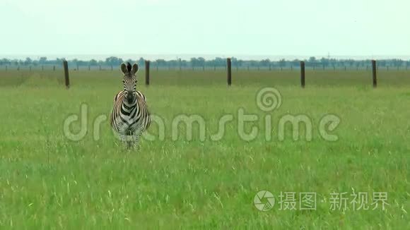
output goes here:
[[2, 56], [409, 56], [409, 0], [1, 0]]

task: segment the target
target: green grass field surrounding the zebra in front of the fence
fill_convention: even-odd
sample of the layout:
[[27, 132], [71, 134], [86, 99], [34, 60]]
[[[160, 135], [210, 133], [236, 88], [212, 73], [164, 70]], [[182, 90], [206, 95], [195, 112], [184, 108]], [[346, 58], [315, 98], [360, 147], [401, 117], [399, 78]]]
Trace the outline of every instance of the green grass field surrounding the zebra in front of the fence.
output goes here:
[[[71, 88], [53, 71], [0, 71], [0, 229], [410, 229], [410, 71], [152, 71], [151, 85], [139, 72], [137, 88], [151, 112], [165, 121], [165, 140], [141, 140], [140, 150], [118, 145], [109, 121], [94, 140], [96, 118], [109, 118], [122, 90], [119, 71], [71, 71]], [[281, 92], [273, 112], [257, 107], [262, 87]], [[64, 121], [88, 107], [86, 136], [72, 141]], [[238, 109], [257, 115], [254, 140], [238, 134]], [[194, 126], [192, 140], [172, 120], [180, 114], [206, 121], [206, 140]], [[213, 141], [221, 116], [233, 114], [225, 135]], [[264, 118], [270, 114], [271, 140]], [[304, 114], [312, 140], [293, 140], [282, 116]], [[326, 114], [341, 123], [339, 140], [321, 138]], [[78, 121], [71, 127], [79, 131]], [[153, 123], [150, 133], [159, 135]], [[259, 190], [276, 203], [254, 206]], [[352, 194], [368, 194], [369, 210], [354, 210]], [[296, 194], [296, 210], [280, 210], [281, 192]], [[316, 193], [316, 210], [300, 210], [299, 193]], [[331, 193], [347, 193], [347, 210], [332, 210]], [[373, 193], [387, 193], [385, 210], [373, 210]], [[266, 199], [262, 200], [266, 202]]]

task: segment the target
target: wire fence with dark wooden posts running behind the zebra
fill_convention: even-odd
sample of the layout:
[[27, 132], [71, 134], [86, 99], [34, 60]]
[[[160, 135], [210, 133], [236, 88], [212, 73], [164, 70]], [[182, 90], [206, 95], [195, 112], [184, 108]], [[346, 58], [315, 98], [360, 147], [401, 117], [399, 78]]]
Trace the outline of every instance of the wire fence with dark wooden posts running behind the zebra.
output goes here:
[[[64, 63], [66, 63], [64, 65]], [[64, 68], [65, 66], [65, 68]], [[373, 85], [377, 79], [382, 85], [410, 85], [408, 66], [377, 66], [369, 61], [361, 66], [312, 66], [301, 61], [298, 66], [243, 66], [234, 60], [226, 59], [225, 66], [160, 66], [158, 63], [145, 61], [139, 65], [140, 84], [145, 85], [249, 85], [249, 84], [285, 84], [285, 85]], [[151, 73], [151, 74], [150, 74]], [[0, 87], [23, 85], [66, 85], [78, 82], [82, 78], [103, 76], [115, 78], [119, 66], [71, 65], [62, 61], [52, 65], [0, 65]], [[70, 77], [74, 77], [70, 81]], [[153, 78], [153, 80], [150, 80]], [[205, 80], [199, 80], [204, 78]], [[54, 80], [53, 80], [54, 79]], [[94, 78], [92, 78], [94, 79]], [[225, 79], [225, 80], [223, 80]], [[88, 83], [88, 81], [86, 80]], [[90, 85], [93, 84], [90, 80]]]

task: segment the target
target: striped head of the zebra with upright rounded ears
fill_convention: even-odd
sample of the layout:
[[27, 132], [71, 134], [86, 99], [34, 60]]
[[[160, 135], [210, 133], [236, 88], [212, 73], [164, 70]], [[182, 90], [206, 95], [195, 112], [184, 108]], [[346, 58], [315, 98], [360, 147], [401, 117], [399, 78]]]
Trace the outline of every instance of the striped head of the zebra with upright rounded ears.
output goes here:
[[124, 92], [125, 92], [125, 98], [127, 99], [127, 102], [131, 104], [134, 102], [134, 99], [136, 97], [136, 72], [138, 72], [138, 64], [134, 63], [134, 65], [131, 66], [129, 62], [127, 64], [122, 63], [121, 64], [121, 71], [124, 74], [124, 79], [122, 82], [124, 83]]

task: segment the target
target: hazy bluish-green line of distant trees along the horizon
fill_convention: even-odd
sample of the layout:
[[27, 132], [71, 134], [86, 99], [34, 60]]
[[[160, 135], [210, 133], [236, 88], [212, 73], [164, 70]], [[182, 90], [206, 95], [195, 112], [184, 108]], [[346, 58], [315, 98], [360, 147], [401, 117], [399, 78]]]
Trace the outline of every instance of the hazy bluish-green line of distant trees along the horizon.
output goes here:
[[[47, 66], [47, 65], [54, 65], [59, 66], [61, 65], [64, 59], [54, 59], [49, 60], [47, 57], [40, 57], [38, 60], [30, 59], [29, 57], [26, 59], [0, 59], [0, 65], [5, 66]], [[139, 63], [140, 68], [144, 68], [145, 60], [143, 58], [137, 60], [131, 59], [121, 59], [116, 56], [110, 56], [105, 61], [97, 61], [95, 59], [91, 59], [90, 61], [83, 61], [78, 59], [68, 60], [69, 66], [71, 68], [79, 68], [79, 67], [90, 67], [90, 66], [114, 66], [117, 68], [120, 63], [122, 62], [129, 62], [129, 63]], [[359, 68], [359, 67], [366, 67], [370, 66], [370, 59], [367, 60], [353, 60], [353, 59], [317, 59], [314, 56], [310, 57], [309, 59], [305, 60], [286, 60], [281, 59], [279, 61], [271, 61], [269, 59], [264, 59], [260, 61], [248, 61], [248, 60], [240, 60], [233, 58], [232, 64], [233, 67], [238, 68], [292, 68], [297, 67], [300, 65], [300, 61], [305, 61], [306, 66], [312, 68]], [[226, 59], [217, 57], [216, 59], [206, 60], [203, 57], [192, 58], [190, 60], [182, 60], [182, 59], [175, 59], [175, 60], [165, 60], [165, 59], [157, 59], [151, 60], [151, 66], [153, 68], [221, 68], [226, 66]], [[410, 60], [404, 61], [402, 59], [383, 59], [377, 60], [377, 66], [381, 67], [403, 67], [403, 66], [410, 66]], [[151, 68], [152, 68], [151, 67]]]

